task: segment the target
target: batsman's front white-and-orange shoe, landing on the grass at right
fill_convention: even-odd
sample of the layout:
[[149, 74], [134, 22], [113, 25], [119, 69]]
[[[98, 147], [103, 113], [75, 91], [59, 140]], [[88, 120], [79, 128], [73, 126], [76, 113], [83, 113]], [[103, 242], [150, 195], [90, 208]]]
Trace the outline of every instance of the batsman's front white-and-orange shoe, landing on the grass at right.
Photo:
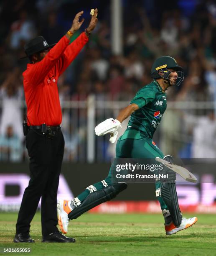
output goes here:
[[170, 224], [164, 224], [165, 225], [165, 230], [166, 230], [166, 235], [172, 235], [172, 234], [175, 234], [178, 231], [189, 228], [193, 224], [195, 224], [197, 222], [197, 220], [198, 219], [196, 217], [193, 217], [193, 218], [190, 218], [190, 219], [182, 218], [181, 224], [178, 227], [176, 227], [173, 224], [173, 222], [171, 222]]

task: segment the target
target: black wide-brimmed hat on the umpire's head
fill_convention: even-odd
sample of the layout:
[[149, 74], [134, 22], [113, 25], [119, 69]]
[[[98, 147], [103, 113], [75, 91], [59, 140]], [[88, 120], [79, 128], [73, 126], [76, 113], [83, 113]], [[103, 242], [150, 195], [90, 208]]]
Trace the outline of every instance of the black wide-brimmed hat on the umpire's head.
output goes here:
[[26, 56], [21, 59], [30, 57], [37, 52], [52, 48], [54, 45], [56, 44], [48, 45], [47, 41], [43, 36], [37, 36], [36, 38], [31, 39], [28, 43], [25, 44], [24, 50]]

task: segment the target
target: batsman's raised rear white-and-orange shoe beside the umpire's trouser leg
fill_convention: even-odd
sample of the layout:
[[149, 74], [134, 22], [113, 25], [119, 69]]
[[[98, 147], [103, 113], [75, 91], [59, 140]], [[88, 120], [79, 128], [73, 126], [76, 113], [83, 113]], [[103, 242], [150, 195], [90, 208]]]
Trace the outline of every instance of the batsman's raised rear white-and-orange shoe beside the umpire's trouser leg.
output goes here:
[[61, 232], [64, 234], [68, 232], [68, 224], [70, 221], [68, 214], [72, 210], [70, 203], [71, 201], [67, 200], [59, 200], [57, 202], [58, 225], [61, 229]]

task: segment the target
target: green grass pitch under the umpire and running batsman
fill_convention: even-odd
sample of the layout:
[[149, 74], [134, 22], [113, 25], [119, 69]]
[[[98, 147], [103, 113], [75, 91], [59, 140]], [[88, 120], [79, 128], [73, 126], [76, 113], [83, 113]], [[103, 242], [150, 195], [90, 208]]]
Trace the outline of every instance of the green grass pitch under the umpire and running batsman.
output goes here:
[[[193, 215], [184, 215], [193, 217]], [[3, 248], [30, 248], [20, 255], [216, 255], [216, 216], [196, 215], [187, 230], [166, 236], [159, 214], [84, 214], [69, 224], [68, 236], [76, 243], [41, 243], [40, 214], [31, 225], [34, 244], [13, 243], [17, 213], [0, 213], [0, 254]]]

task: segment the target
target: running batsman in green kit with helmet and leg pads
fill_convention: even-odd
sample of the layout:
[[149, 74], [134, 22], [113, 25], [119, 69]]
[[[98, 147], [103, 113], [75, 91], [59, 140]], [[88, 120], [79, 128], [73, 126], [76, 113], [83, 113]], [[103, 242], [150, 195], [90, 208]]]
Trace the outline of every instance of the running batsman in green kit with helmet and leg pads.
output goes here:
[[[172, 163], [172, 156], [164, 156], [152, 137], [160, 124], [167, 107], [165, 91], [168, 87], [179, 86], [184, 79], [182, 67], [175, 59], [162, 56], [155, 60], [151, 69], [152, 82], [142, 87], [126, 108], [119, 112], [116, 119], [109, 118], [97, 125], [97, 136], [111, 133], [109, 141], [114, 143], [118, 128], [130, 116], [125, 133], [118, 139], [116, 145], [116, 158], [147, 158], [160, 157]], [[60, 200], [57, 204], [58, 224], [63, 233], [67, 233], [69, 220], [78, 218], [93, 207], [116, 197], [127, 184], [112, 183], [111, 169], [107, 178], [89, 185], [84, 192], [71, 201]], [[172, 235], [196, 223], [197, 218], [183, 218], [175, 187], [176, 174], [167, 166], [161, 171], [168, 174], [168, 179], [156, 179], [156, 197], [165, 219], [166, 235]]]

